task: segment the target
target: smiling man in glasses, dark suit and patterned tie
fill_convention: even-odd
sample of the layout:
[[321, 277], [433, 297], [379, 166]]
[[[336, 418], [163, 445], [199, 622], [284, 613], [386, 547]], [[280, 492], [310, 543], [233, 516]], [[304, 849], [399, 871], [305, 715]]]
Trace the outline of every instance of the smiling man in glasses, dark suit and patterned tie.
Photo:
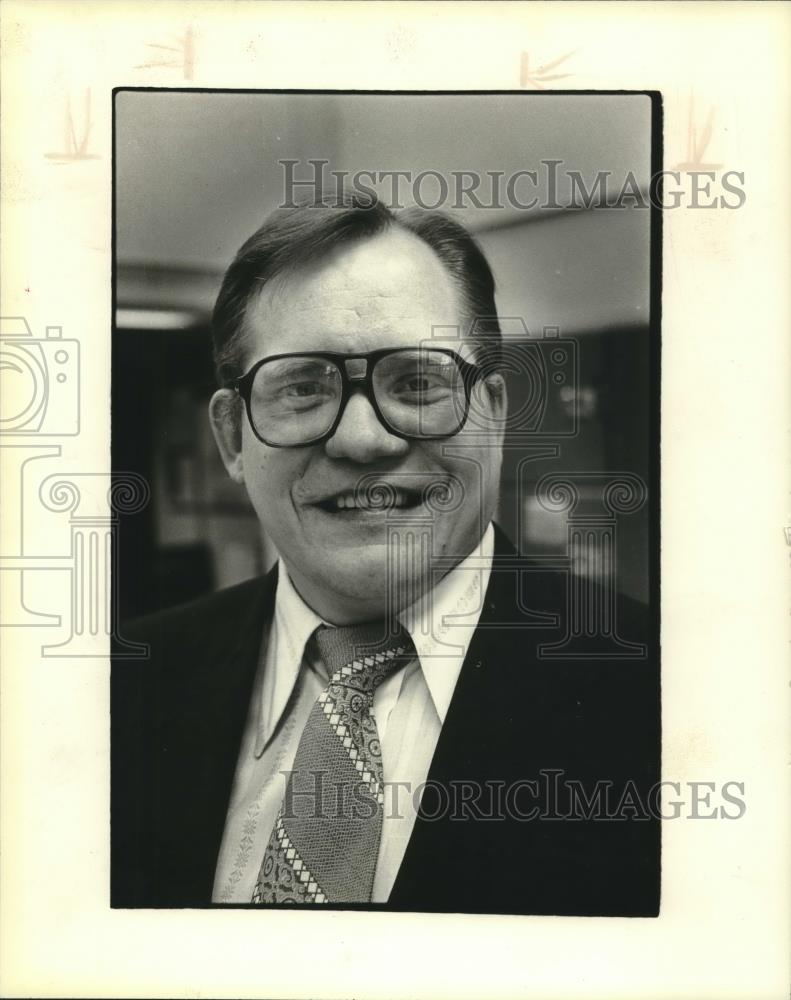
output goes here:
[[474, 240], [350, 195], [281, 210], [214, 336], [217, 444], [280, 559], [114, 665], [113, 904], [656, 914], [655, 657], [544, 655], [573, 597], [492, 525], [506, 392]]

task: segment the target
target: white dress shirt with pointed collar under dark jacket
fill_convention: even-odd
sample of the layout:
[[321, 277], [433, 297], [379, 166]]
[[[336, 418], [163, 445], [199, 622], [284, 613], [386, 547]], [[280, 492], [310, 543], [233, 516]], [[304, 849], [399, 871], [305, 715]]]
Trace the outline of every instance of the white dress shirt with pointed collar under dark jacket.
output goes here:
[[[376, 690], [372, 713], [382, 747], [385, 802], [372, 902], [390, 895], [420, 806], [442, 724], [483, 606], [494, 551], [486, 529], [470, 555], [437, 586], [398, 615], [417, 659]], [[302, 730], [328, 677], [315, 642], [326, 624], [278, 571], [269, 641], [253, 686], [222, 846], [215, 903], [249, 903], [283, 800]]]

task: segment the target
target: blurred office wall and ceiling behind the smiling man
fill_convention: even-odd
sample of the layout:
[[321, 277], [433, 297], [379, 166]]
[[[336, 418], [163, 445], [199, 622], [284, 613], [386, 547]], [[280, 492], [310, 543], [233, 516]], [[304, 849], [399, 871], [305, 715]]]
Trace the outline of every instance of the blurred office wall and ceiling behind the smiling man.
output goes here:
[[[311, 175], [311, 159], [350, 174], [535, 170], [538, 187], [515, 191], [540, 204], [549, 195], [541, 161], [562, 161], [555, 207], [449, 211], [489, 258], [509, 347], [518, 354], [527, 343], [544, 366], [547, 405], [530, 440], [558, 446], [555, 457], [528, 463], [530, 435], [506, 448], [499, 520], [524, 552], [563, 553], [565, 515], [534, 498], [543, 475], [629, 472], [647, 481], [658, 377], [649, 364], [650, 212], [633, 199], [575, 208], [568, 181], [579, 171], [590, 188], [597, 172], [611, 171], [617, 194], [631, 172], [647, 191], [647, 97], [124, 91], [115, 117], [113, 464], [146, 476], [153, 496], [121, 526], [122, 619], [246, 579], [276, 557], [225, 475], [206, 402], [214, 297], [240, 244], [283, 199], [280, 160], [299, 161], [299, 178]], [[378, 187], [389, 201], [390, 184]], [[411, 190], [401, 187], [406, 204]], [[422, 190], [428, 200], [438, 189]], [[484, 204], [488, 190], [479, 191]], [[571, 352], [560, 387], [555, 355], [541, 346], [547, 329]], [[509, 389], [513, 409], [535, 385], [517, 371]], [[619, 518], [617, 532], [618, 587], [645, 600], [647, 508]]]

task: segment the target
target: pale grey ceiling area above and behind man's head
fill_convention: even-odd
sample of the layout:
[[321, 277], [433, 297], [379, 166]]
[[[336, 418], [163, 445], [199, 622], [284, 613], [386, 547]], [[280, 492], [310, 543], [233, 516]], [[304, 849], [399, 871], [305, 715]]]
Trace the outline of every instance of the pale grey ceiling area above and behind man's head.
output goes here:
[[[327, 172], [436, 171], [451, 183], [454, 172], [474, 172], [483, 178], [478, 193], [486, 204], [488, 172], [507, 178], [535, 170], [537, 189], [517, 188], [516, 196], [546, 196], [550, 168], [542, 160], [560, 160], [555, 200], [564, 205], [567, 171], [579, 171], [588, 188], [597, 172], [611, 171], [616, 192], [631, 171], [644, 189], [650, 123], [644, 95], [121, 91], [119, 302], [140, 301], [146, 286], [151, 304], [166, 304], [168, 275], [181, 272], [193, 276], [189, 294], [205, 308], [239, 245], [283, 199], [286, 168], [278, 161], [297, 160], [300, 178], [312, 176], [311, 159], [329, 161]], [[375, 186], [392, 200], [391, 180]], [[431, 177], [420, 189], [427, 201], [438, 190]], [[412, 203], [410, 185], [402, 182], [400, 191], [404, 203]], [[498, 279], [501, 312], [527, 309], [531, 329], [646, 319], [646, 210], [512, 206], [451, 208], [450, 214], [479, 234]], [[123, 287], [125, 273], [136, 275], [136, 292]], [[148, 285], [141, 285], [141, 275], [152, 276]]]

